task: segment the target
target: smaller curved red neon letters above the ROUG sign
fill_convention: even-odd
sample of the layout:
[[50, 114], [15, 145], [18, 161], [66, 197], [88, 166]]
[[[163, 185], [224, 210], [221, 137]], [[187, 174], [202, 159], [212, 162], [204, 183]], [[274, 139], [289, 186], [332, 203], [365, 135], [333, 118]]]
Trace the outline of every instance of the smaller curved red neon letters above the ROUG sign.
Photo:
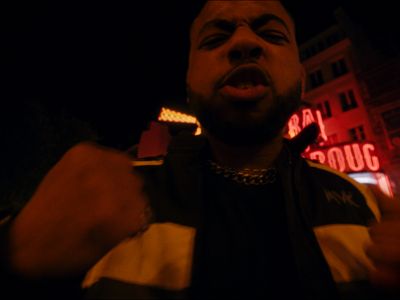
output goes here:
[[294, 138], [304, 128], [312, 123], [317, 123], [320, 128], [319, 145], [322, 146], [328, 140], [325, 131], [325, 125], [322, 120], [322, 114], [317, 109], [305, 108], [292, 115], [288, 122], [288, 135]]

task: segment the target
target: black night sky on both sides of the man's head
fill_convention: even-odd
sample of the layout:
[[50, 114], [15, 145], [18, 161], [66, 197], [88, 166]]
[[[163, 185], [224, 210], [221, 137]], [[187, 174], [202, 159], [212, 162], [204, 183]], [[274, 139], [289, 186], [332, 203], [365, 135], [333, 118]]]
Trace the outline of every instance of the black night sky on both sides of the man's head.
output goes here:
[[[2, 1], [3, 108], [33, 99], [89, 121], [111, 144], [132, 143], [161, 102], [184, 102], [187, 10], [195, 1]], [[395, 1], [287, 2], [300, 42], [329, 26], [342, 5], [375, 44], [398, 46]]]

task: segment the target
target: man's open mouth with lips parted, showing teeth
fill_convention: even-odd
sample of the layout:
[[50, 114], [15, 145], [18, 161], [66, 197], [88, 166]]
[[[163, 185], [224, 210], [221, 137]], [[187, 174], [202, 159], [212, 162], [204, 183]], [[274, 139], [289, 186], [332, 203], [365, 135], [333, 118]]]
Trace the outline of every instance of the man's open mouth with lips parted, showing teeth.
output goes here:
[[267, 76], [257, 66], [242, 66], [230, 73], [221, 84], [221, 94], [237, 101], [263, 98], [268, 88]]

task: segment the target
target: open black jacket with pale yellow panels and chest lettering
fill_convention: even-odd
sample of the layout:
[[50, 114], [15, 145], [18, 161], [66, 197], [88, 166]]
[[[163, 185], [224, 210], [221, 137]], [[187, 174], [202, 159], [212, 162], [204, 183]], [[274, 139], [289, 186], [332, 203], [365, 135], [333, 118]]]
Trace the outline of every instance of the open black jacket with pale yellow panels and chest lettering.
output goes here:
[[[135, 161], [154, 210], [143, 235], [115, 247], [88, 272], [87, 299], [187, 297], [201, 228], [205, 149], [180, 136], [161, 160]], [[344, 174], [306, 161], [286, 145], [277, 160], [295, 263], [308, 299], [378, 299], [367, 282], [372, 194]]]

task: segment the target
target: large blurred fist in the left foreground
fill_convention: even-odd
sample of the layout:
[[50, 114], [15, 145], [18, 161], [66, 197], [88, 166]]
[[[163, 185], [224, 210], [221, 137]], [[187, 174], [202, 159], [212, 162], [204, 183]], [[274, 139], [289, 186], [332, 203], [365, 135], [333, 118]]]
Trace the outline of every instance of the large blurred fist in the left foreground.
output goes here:
[[68, 151], [10, 230], [10, 264], [32, 278], [86, 272], [146, 223], [143, 183], [128, 156], [92, 144]]

